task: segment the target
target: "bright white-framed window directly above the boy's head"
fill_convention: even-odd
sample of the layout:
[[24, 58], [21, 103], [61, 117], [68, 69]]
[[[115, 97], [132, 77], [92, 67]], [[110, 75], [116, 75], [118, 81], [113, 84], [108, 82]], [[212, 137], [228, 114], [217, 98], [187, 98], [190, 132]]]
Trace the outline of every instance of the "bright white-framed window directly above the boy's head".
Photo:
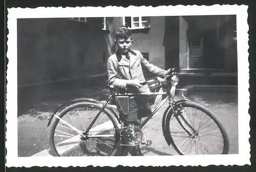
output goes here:
[[123, 25], [129, 29], [150, 28], [150, 17], [123, 17]]

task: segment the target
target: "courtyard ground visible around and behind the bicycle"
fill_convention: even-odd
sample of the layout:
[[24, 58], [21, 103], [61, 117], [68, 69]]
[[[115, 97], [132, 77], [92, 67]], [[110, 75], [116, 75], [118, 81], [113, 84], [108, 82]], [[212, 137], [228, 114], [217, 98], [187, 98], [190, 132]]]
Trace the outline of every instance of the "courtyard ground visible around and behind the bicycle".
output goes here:
[[[81, 87], [75, 85], [28, 89], [18, 95], [18, 156], [32, 156], [48, 149], [49, 129], [47, 117], [65, 101], [80, 97], [105, 100], [109, 90], [102, 87]], [[238, 153], [238, 101], [237, 94], [198, 92], [189, 100], [204, 105], [222, 122], [230, 139], [230, 153]], [[166, 107], [166, 105], [164, 105]], [[164, 107], [146, 124], [144, 137], [153, 144], [142, 148], [144, 155], [174, 155], [162, 135], [161, 121]]]

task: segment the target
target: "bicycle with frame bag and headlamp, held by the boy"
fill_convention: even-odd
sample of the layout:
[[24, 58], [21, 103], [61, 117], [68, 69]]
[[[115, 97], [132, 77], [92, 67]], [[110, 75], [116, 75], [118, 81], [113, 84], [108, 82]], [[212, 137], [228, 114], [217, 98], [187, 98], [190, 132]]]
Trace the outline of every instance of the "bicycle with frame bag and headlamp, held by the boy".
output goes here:
[[[150, 88], [155, 90], [153, 92], [113, 92], [104, 102], [76, 99], [63, 104], [51, 115], [47, 126], [49, 127], [53, 117], [56, 117], [49, 136], [53, 156], [118, 156], [120, 147], [129, 149], [141, 143], [148, 144], [147, 140], [143, 140], [142, 128], [167, 101], [169, 105], [163, 113], [162, 132], [167, 144], [172, 145], [179, 155], [228, 154], [227, 132], [214, 114], [201, 105], [188, 102], [183, 94], [183, 99], [174, 100], [176, 85], [179, 83], [177, 75], [175, 68], [172, 68], [162, 81], [147, 81]], [[129, 100], [134, 96], [142, 94], [150, 96], [150, 99], [156, 95], [160, 103], [140, 126], [131, 126], [125, 120], [129, 109], [123, 105], [129, 104]], [[163, 99], [162, 96], [166, 97]], [[111, 101], [114, 105], [110, 104]], [[189, 108], [192, 109], [192, 115], [188, 114]], [[57, 114], [60, 109], [62, 110]], [[201, 112], [201, 115], [196, 116], [194, 111]], [[86, 116], [77, 115], [80, 112], [86, 113]], [[91, 122], [87, 122], [91, 119]], [[76, 126], [75, 121], [81, 121], [81, 124]], [[195, 124], [195, 121], [199, 121], [199, 124]], [[89, 126], [86, 127], [85, 123]], [[207, 127], [209, 129], [206, 129]]]

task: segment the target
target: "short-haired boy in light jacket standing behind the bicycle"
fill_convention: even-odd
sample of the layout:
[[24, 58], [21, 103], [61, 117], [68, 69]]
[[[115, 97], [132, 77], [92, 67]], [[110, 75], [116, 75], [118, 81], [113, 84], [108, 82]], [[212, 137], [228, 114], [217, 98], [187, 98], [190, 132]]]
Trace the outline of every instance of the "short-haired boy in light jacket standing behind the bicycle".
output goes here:
[[[160, 78], [167, 75], [168, 70], [163, 70], [143, 58], [137, 50], [131, 50], [133, 43], [132, 33], [125, 27], [119, 28], [115, 35], [117, 52], [110, 56], [107, 63], [108, 83], [126, 92], [147, 92], [147, 85], [142, 72], [142, 66]], [[129, 113], [126, 116], [127, 122], [139, 126], [141, 118], [152, 113], [148, 96], [139, 95], [129, 100]]]

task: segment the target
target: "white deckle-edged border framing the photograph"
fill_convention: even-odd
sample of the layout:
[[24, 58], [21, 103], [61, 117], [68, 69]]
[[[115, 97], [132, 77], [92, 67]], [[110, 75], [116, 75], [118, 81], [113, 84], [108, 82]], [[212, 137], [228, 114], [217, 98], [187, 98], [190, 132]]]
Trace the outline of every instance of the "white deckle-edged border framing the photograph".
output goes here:
[[[6, 149], [8, 167], [31, 166], [170, 166], [170, 165], [245, 165], [250, 163], [249, 144], [249, 63], [248, 24], [245, 5], [214, 6], [159, 6], [159, 7], [39, 7], [8, 9], [8, 52], [7, 70], [7, 133]], [[237, 15], [238, 43], [238, 116], [239, 154], [202, 156], [139, 156], [139, 157], [18, 157], [17, 156], [17, 18], [55, 17], [114, 17], [128, 14], [140, 16], [184, 16], [184, 15]]]

